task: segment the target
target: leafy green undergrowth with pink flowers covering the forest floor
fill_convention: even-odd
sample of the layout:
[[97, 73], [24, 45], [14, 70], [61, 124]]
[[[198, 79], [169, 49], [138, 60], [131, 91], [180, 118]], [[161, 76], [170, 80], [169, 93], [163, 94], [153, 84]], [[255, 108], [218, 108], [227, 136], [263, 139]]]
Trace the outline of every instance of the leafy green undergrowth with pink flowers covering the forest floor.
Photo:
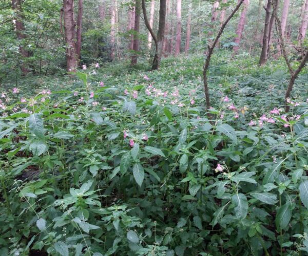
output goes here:
[[1, 255], [308, 252], [306, 74], [285, 114], [284, 67], [252, 62], [213, 61], [210, 115], [202, 57], [8, 86]]

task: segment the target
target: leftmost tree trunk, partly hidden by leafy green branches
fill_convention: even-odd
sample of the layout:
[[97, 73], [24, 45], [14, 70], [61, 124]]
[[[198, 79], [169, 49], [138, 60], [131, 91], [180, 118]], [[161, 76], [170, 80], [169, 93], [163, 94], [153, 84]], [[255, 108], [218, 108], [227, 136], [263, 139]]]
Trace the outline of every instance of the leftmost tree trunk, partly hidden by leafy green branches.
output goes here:
[[[18, 40], [22, 41], [25, 39], [27, 36], [24, 34], [25, 31], [25, 26], [22, 22], [23, 20], [23, 15], [22, 15], [22, 2], [21, 0], [12, 0], [12, 9], [16, 13], [16, 19], [15, 19], [15, 28], [16, 28], [16, 35]], [[22, 55], [23, 58], [28, 58], [30, 56], [29, 52], [24, 49], [22, 46], [23, 42], [21, 42], [20, 47], [19, 47], [19, 52]], [[24, 74], [28, 73], [29, 70], [25, 66], [25, 64], [22, 64], [22, 72]]]

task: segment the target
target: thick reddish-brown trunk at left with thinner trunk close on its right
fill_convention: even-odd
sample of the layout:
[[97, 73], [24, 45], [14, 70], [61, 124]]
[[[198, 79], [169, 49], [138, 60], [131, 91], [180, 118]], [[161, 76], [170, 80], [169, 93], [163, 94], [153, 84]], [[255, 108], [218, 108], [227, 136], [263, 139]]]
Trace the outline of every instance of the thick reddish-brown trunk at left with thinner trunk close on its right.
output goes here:
[[75, 71], [77, 66], [75, 50], [74, 1], [63, 0], [64, 31], [66, 42], [66, 63], [68, 71]]

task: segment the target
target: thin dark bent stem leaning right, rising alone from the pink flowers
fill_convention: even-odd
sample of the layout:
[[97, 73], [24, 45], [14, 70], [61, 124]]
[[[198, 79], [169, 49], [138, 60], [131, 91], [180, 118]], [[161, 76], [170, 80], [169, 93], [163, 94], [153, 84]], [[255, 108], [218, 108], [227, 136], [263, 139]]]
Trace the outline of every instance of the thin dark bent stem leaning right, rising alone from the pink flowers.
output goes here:
[[235, 9], [232, 11], [232, 13], [227, 17], [227, 19], [225, 20], [225, 22], [222, 24], [213, 44], [208, 45], [208, 51], [207, 51], [207, 56], [204, 62], [204, 66], [203, 66], [203, 86], [204, 86], [204, 93], [205, 93], [205, 101], [206, 101], [206, 109], [209, 110], [210, 108], [210, 100], [209, 100], [209, 91], [208, 91], [208, 83], [207, 83], [207, 70], [209, 67], [209, 63], [210, 63], [210, 57], [213, 54], [213, 50], [224, 30], [224, 28], [226, 27], [226, 25], [228, 24], [228, 22], [230, 21], [230, 19], [234, 16], [234, 14], [237, 12], [237, 10], [240, 8], [240, 6], [243, 4], [244, 0], [239, 0], [237, 6], [235, 7]]

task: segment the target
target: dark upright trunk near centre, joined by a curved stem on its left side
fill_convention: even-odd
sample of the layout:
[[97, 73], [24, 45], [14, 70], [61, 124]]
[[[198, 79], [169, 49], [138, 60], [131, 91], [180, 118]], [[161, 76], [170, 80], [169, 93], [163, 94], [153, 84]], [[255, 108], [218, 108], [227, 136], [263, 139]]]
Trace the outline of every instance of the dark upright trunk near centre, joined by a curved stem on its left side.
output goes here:
[[152, 70], [159, 69], [160, 61], [161, 61], [161, 53], [162, 53], [162, 42], [164, 39], [165, 33], [165, 23], [166, 23], [166, 0], [160, 0], [160, 8], [159, 8], [159, 24], [158, 24], [158, 32], [157, 32], [157, 43], [158, 49], [155, 52], [155, 56], [153, 59]]

